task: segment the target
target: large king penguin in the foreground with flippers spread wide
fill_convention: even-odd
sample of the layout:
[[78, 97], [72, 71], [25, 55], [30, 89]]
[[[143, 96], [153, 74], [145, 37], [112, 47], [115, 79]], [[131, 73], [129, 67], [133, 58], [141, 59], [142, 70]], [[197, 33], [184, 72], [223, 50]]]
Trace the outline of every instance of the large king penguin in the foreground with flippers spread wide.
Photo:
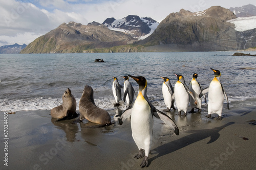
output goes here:
[[126, 109], [120, 117], [119, 124], [122, 125], [123, 121], [131, 116], [132, 136], [139, 149], [139, 153], [135, 158], [144, 157], [140, 166], [145, 167], [148, 165], [148, 154], [152, 145], [153, 115], [172, 127], [176, 135], [179, 135], [179, 129], [169, 116], [157, 110], [148, 100], [146, 96], [146, 79], [142, 76], [135, 77], [129, 75], [129, 77], [133, 78], [139, 84], [139, 92], [133, 106]]

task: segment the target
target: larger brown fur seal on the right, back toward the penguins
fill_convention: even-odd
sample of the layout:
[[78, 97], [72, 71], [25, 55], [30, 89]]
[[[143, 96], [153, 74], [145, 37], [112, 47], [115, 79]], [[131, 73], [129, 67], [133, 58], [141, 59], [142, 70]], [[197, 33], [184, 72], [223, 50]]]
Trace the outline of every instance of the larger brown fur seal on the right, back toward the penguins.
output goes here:
[[110, 114], [95, 105], [93, 99], [93, 88], [91, 86], [86, 85], [83, 89], [79, 102], [79, 111], [80, 117], [73, 123], [82, 122], [82, 120], [86, 118], [90, 122], [101, 126], [109, 126], [112, 124]]

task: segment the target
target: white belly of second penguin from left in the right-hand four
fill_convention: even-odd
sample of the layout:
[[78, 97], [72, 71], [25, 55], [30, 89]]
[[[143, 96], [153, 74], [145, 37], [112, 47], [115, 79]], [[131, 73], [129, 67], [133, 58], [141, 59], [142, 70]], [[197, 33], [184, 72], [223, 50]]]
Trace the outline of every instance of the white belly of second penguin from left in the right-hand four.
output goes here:
[[177, 82], [174, 86], [175, 102], [178, 108], [178, 111], [183, 110], [184, 112], [188, 109], [189, 96], [184, 87], [180, 82]]

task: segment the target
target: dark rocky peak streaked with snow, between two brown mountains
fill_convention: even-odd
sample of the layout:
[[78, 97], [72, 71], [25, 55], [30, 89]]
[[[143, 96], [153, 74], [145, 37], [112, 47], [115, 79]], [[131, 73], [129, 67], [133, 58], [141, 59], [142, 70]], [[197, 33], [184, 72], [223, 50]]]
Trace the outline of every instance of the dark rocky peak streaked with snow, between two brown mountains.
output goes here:
[[141, 40], [150, 36], [159, 22], [148, 17], [140, 18], [137, 15], [128, 15], [122, 19], [107, 18], [102, 24], [110, 30], [121, 31]]

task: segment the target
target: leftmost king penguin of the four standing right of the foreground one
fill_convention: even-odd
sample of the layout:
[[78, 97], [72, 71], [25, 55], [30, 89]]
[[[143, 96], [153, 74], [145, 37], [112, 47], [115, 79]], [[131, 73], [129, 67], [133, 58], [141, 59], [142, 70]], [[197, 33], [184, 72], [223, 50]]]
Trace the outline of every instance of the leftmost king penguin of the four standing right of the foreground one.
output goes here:
[[165, 105], [167, 106], [167, 111], [170, 111], [170, 108], [173, 108], [174, 110], [174, 100], [172, 100], [172, 95], [174, 93], [174, 89], [172, 84], [170, 84], [169, 78], [167, 77], [161, 77], [164, 82], [162, 85], [162, 92], [163, 92], [163, 100]]

